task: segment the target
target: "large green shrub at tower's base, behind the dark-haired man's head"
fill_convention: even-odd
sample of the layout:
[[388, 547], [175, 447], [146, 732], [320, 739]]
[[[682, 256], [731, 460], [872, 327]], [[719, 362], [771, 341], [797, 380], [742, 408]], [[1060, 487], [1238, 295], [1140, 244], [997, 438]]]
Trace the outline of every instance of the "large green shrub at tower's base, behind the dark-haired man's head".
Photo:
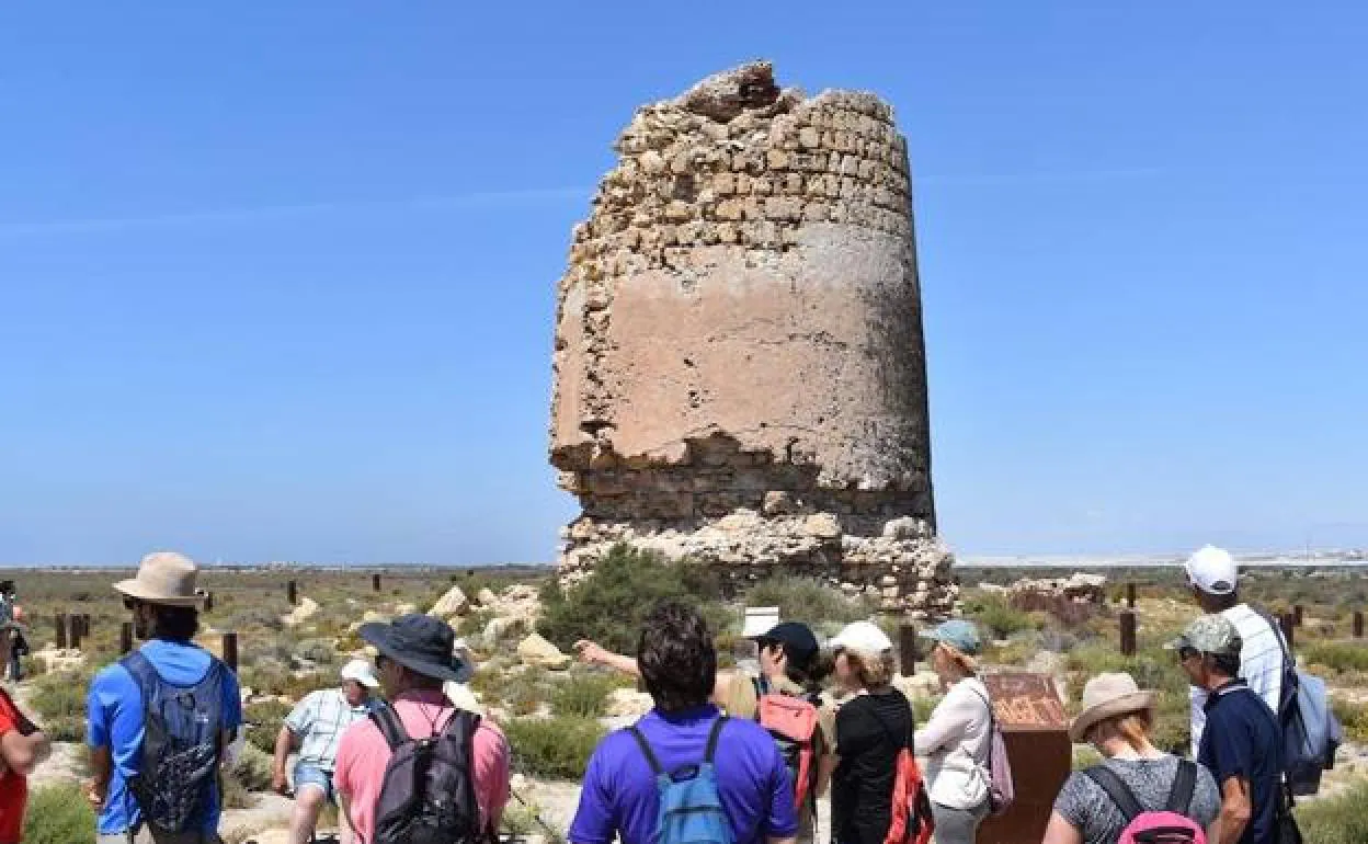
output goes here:
[[705, 569], [616, 546], [577, 585], [562, 590], [554, 580], [546, 583], [538, 632], [562, 651], [569, 651], [577, 639], [592, 639], [611, 651], [636, 652], [642, 621], [657, 602], [676, 598], [698, 605], [711, 632], [720, 633], [729, 613], [710, 599], [718, 587]]

